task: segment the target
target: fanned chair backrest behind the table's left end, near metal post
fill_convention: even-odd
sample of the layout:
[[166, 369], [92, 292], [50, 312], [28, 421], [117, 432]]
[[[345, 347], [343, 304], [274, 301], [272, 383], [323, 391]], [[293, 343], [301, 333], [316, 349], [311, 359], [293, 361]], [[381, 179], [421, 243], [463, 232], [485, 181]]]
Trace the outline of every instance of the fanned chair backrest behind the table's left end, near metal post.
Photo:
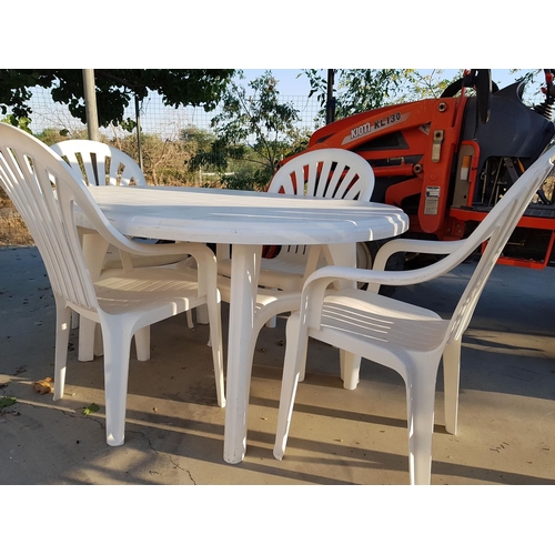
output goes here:
[[139, 164], [121, 150], [98, 141], [69, 140], [51, 149], [82, 174], [87, 185], [147, 186]]

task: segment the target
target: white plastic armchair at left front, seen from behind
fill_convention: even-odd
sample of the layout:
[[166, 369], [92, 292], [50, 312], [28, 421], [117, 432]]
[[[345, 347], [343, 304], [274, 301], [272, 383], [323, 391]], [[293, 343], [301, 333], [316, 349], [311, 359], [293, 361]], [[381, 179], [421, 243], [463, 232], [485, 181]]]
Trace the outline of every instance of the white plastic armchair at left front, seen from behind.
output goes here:
[[[119, 233], [98, 209], [80, 175], [30, 134], [0, 124], [0, 184], [20, 212], [42, 256], [57, 310], [54, 400], [63, 395], [71, 311], [98, 322], [104, 344], [105, 432], [109, 445], [124, 441], [130, 345], [161, 320], [208, 304], [218, 404], [224, 406], [216, 262], [205, 245], [148, 245]], [[151, 255], [190, 254], [199, 282], [161, 268], [112, 271], [93, 282], [73, 220], [78, 205], [98, 233], [118, 249]], [[162, 251], [160, 249], [162, 248]], [[135, 337], [137, 339], [137, 337]], [[143, 342], [144, 344], [144, 342]], [[139, 359], [148, 353], [138, 352]]]

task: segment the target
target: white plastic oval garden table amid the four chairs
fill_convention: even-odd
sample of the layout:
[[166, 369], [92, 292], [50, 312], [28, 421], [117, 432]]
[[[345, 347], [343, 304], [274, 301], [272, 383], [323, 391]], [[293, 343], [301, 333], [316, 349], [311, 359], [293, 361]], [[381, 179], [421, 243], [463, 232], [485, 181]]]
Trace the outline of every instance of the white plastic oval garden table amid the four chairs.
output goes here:
[[[355, 243], [398, 235], [408, 228], [394, 206], [357, 201], [190, 188], [92, 186], [90, 192], [123, 234], [233, 245], [224, 454], [246, 451], [246, 413], [258, 273], [263, 244], [324, 244], [336, 265], [355, 265]], [[75, 214], [78, 225], [88, 222]], [[104, 251], [105, 252], [105, 251]], [[99, 254], [100, 256], [100, 254]]]

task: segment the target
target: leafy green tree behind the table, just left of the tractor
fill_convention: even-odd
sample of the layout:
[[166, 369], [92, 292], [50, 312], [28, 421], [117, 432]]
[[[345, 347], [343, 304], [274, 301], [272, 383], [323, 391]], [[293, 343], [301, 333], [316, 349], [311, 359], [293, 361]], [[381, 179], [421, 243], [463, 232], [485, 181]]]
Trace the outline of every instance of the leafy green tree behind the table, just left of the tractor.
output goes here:
[[[239, 74], [242, 77], [242, 73]], [[231, 83], [223, 95], [222, 111], [212, 119], [219, 140], [214, 152], [223, 152], [222, 168], [230, 159], [248, 162], [241, 172], [225, 175], [233, 189], [262, 189], [270, 182], [278, 163], [299, 143], [299, 111], [280, 102], [278, 81], [271, 71], [250, 81], [248, 87]]]

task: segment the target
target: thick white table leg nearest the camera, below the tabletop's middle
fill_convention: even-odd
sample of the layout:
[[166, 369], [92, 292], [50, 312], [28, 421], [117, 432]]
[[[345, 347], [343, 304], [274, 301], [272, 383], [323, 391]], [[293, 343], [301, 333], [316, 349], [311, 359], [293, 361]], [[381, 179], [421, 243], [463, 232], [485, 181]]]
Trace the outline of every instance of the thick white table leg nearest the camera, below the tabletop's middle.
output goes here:
[[223, 458], [240, 463], [246, 452], [246, 417], [254, 345], [254, 309], [259, 283], [259, 245], [233, 245], [228, 346], [228, 397]]

